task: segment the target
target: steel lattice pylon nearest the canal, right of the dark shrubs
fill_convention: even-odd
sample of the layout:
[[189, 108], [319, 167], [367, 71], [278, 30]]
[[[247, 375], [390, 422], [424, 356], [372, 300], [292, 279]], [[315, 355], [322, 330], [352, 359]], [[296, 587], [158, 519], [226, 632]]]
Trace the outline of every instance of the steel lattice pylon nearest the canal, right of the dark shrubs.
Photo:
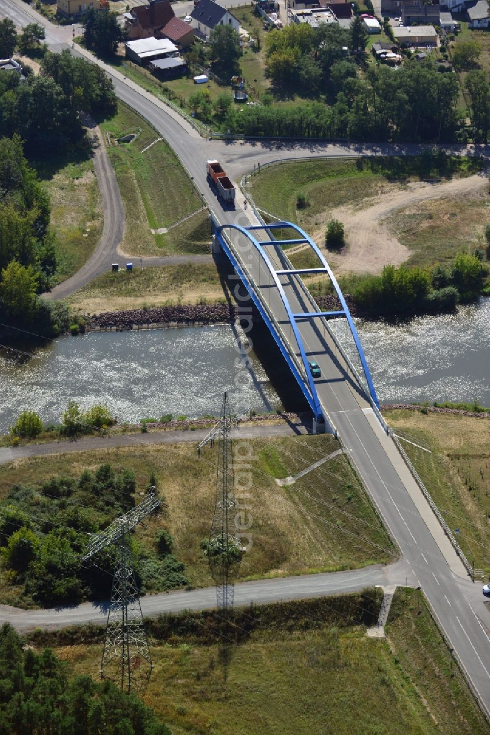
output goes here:
[[237, 417], [231, 415], [228, 397], [223, 397], [220, 420], [201, 444], [201, 448], [217, 438], [216, 502], [208, 544], [208, 562], [212, 578], [216, 584], [217, 607], [228, 620], [228, 610], [233, 607], [234, 582], [237, 578], [242, 550], [235, 526], [235, 491], [233, 472], [233, 440], [231, 429]]

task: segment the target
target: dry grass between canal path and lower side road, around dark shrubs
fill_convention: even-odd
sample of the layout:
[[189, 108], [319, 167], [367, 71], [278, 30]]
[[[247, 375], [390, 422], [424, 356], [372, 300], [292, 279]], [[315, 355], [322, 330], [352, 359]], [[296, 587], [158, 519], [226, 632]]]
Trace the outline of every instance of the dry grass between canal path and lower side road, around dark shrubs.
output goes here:
[[[359, 567], [393, 558], [386, 532], [345, 456], [336, 456], [290, 487], [275, 483], [275, 477], [295, 474], [331, 453], [338, 446], [334, 439], [317, 435], [240, 442], [238, 438], [234, 446], [237, 454], [250, 452], [254, 460], [250, 462], [253, 487], [247, 501], [253, 519], [248, 531], [253, 534], [253, 547], [242, 561], [241, 578]], [[32, 487], [58, 474], [78, 477], [84, 467], [104, 462], [115, 470], [133, 470], [138, 487], [145, 487], [148, 476], [155, 472], [168, 509], [163, 521], [151, 518], [145, 522], [147, 527], [135, 534], [137, 542], [143, 547], [153, 543], [163, 523], [176, 539], [173, 553], [185, 563], [190, 584], [212, 584], [201, 548], [209, 537], [215, 503], [216, 451], [212, 448], [202, 451], [199, 460], [190, 442], [165, 447], [135, 442], [129, 448], [20, 460], [14, 467], [0, 467], [1, 497], [11, 483]], [[236, 459], [236, 473], [239, 467]]]

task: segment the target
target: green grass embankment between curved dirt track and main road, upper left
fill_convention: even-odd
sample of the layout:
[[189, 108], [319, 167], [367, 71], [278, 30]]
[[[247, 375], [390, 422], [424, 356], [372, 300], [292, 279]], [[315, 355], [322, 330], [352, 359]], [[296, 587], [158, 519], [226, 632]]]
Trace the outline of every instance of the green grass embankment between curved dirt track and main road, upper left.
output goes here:
[[[164, 140], [154, 143], [159, 134], [137, 112], [122, 103], [114, 118], [102, 123], [101, 128], [110, 133], [113, 141], [109, 157], [126, 209], [123, 252], [138, 256], [181, 251], [179, 232], [173, 232], [165, 240], [163, 235], [151, 233], [151, 229], [168, 228], [202, 207], [178, 159]], [[139, 135], [132, 143], [117, 145], [115, 140], [130, 132]], [[142, 153], [151, 143], [154, 145]], [[190, 222], [187, 230], [192, 229], [192, 220]], [[198, 236], [202, 234], [198, 229]], [[188, 244], [194, 252], [195, 245]]]

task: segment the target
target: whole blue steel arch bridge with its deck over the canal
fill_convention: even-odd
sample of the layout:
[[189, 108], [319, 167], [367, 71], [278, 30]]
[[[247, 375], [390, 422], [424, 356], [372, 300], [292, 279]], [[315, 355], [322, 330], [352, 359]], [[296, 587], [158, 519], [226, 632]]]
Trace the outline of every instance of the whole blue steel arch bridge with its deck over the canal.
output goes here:
[[[213, 229], [221, 251], [245, 285], [298, 382], [317, 426], [323, 424], [335, 431], [333, 417], [337, 412], [371, 407], [379, 415], [378, 397], [356, 325], [334, 273], [311, 237], [285, 221], [251, 226], [214, 222]], [[293, 267], [288, 250], [298, 245], [305, 251], [302, 259], [314, 261], [314, 266]], [[308, 288], [308, 278], [322, 276], [336, 295], [338, 308], [331, 311], [320, 309]], [[347, 339], [340, 339], [338, 320], [345, 323]], [[319, 378], [311, 374], [312, 361], [320, 367]]]

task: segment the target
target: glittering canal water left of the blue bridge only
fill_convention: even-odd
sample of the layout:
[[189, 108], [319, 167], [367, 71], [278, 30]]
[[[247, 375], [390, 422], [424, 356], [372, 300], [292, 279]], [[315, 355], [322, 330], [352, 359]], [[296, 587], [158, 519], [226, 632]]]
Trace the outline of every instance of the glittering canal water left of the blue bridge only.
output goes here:
[[223, 391], [239, 414], [281, 407], [253, 351], [237, 367], [247, 337], [226, 326], [90, 332], [0, 348], [0, 433], [23, 409], [59, 423], [69, 398], [87, 409], [105, 403], [119, 422], [172, 413], [220, 415]]

